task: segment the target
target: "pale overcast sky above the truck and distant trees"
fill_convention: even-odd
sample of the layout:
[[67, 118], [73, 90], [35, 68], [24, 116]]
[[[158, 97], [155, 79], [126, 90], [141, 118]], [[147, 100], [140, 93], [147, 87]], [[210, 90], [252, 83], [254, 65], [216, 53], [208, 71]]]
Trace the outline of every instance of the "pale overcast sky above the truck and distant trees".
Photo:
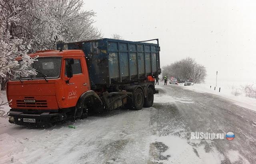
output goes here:
[[[84, 0], [94, 25], [125, 40], [160, 39], [160, 64], [192, 57], [207, 80], [256, 82], [256, 1]], [[238, 80], [239, 79], [239, 80]], [[206, 81], [207, 81], [206, 80]]]

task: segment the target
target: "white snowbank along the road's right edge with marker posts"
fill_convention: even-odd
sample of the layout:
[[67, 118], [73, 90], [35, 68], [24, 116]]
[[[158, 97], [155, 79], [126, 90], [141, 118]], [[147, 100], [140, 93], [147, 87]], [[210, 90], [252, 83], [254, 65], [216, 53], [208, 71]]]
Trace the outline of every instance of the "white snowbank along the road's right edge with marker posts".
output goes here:
[[231, 100], [236, 105], [256, 111], [256, 99], [245, 97], [244, 95], [240, 96], [234, 96], [231, 94], [231, 90], [229, 88], [221, 88], [220, 92], [219, 88], [217, 87], [216, 90], [214, 90], [214, 86], [210, 88], [210, 86], [206, 84], [194, 84], [193, 86], [184, 86], [180, 85], [182, 88], [187, 90], [192, 90], [195, 92], [206, 92], [210, 94], [215, 94], [218, 96], [222, 96], [228, 100]]

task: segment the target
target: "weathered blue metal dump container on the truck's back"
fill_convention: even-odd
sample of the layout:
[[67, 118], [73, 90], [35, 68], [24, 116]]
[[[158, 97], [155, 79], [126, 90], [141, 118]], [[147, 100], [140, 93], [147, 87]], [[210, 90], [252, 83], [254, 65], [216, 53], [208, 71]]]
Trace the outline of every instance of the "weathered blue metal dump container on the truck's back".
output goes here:
[[[92, 86], [143, 81], [161, 73], [158, 44], [98, 39], [58, 44], [57, 49], [82, 49]], [[151, 41], [151, 40], [149, 40]]]

